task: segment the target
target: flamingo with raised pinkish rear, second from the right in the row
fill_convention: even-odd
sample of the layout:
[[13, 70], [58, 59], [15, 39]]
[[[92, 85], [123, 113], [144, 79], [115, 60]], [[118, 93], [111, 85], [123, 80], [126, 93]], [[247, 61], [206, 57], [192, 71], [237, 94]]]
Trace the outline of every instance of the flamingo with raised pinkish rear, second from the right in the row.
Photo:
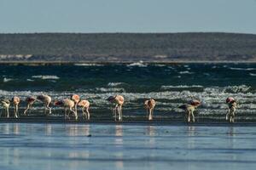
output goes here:
[[185, 116], [185, 120], [187, 122], [190, 122], [190, 116], [192, 116], [192, 122], [195, 122], [195, 116], [194, 116], [194, 111], [195, 108], [201, 105], [201, 102], [193, 99], [192, 101], [189, 102], [189, 104], [186, 105], [180, 105], [178, 108], [183, 109], [183, 111], [186, 111], [188, 114]]

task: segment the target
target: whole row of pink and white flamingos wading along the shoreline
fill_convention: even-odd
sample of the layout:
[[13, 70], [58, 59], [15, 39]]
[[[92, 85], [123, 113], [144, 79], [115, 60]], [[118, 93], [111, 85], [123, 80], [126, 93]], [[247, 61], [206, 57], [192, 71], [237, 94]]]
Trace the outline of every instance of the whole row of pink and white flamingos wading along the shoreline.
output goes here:
[[[122, 122], [123, 121], [123, 114], [122, 114], [122, 105], [125, 103], [125, 98], [119, 94], [116, 94], [114, 96], [110, 96], [107, 99], [110, 103], [114, 104], [113, 107], [113, 116], [114, 121]], [[44, 103], [44, 114], [48, 115], [51, 114], [51, 108], [49, 107], [52, 99], [47, 94], [40, 94], [36, 97], [29, 96], [26, 98], [26, 109], [23, 112], [23, 115], [27, 115], [27, 111], [32, 107], [32, 105], [36, 102], [40, 101]], [[9, 115], [9, 106], [11, 103], [14, 105], [14, 114], [13, 116], [15, 118], [19, 117], [19, 104], [20, 104], [20, 98], [18, 96], [13, 97], [11, 100], [1, 98], [0, 104], [3, 107], [3, 111], [1, 112], [1, 116], [5, 116], [7, 118], [10, 117]], [[228, 111], [226, 114], [226, 120], [229, 122], [234, 122], [235, 119], [235, 112], [237, 107], [237, 101], [236, 99], [229, 97], [226, 99], [226, 104], [228, 105]], [[73, 114], [75, 120], [78, 120], [78, 106], [82, 108], [82, 117], [86, 120], [90, 120], [90, 102], [87, 99], [80, 99], [78, 94], [73, 94], [69, 99], [61, 99], [61, 100], [55, 100], [54, 105], [61, 106], [64, 108], [65, 112], [65, 119], [70, 119], [70, 114]], [[147, 117], [148, 120], [153, 120], [153, 111], [154, 107], [156, 105], [156, 102], [154, 99], [147, 99], [144, 102], [145, 109], [147, 111]], [[188, 104], [180, 105], [178, 108], [185, 111], [185, 122], [195, 122], [195, 116], [194, 111], [195, 108], [197, 108], [199, 105], [201, 105], [201, 101], [193, 99], [189, 101]], [[47, 113], [47, 111], [49, 111]]]

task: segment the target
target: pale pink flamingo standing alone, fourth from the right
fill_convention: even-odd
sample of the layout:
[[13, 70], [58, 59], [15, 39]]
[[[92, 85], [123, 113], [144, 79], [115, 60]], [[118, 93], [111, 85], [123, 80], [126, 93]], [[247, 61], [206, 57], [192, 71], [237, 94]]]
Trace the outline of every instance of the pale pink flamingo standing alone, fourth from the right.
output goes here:
[[114, 114], [114, 120], [117, 121], [116, 113], [118, 112], [119, 114], [119, 121], [123, 120], [123, 114], [122, 114], [122, 105], [125, 102], [125, 99], [123, 96], [116, 94], [114, 96], [110, 96], [107, 99], [109, 102], [116, 104], [115, 107], [113, 108], [113, 114]]

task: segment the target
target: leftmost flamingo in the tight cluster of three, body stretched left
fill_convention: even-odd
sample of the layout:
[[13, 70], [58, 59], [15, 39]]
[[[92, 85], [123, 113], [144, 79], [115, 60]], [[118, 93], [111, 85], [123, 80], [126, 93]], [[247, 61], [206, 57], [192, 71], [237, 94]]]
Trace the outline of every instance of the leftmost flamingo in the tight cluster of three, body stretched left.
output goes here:
[[[72, 112], [75, 116], [75, 120], [78, 120], [78, 115], [75, 111], [73, 111], [73, 107], [74, 107], [74, 101], [72, 99], [62, 99], [62, 100], [56, 100], [55, 101], [55, 105], [57, 106], [63, 106], [64, 107], [64, 110], [65, 110], [65, 119], [67, 117], [69, 117], [69, 113]], [[67, 113], [67, 111], [69, 111]]]

